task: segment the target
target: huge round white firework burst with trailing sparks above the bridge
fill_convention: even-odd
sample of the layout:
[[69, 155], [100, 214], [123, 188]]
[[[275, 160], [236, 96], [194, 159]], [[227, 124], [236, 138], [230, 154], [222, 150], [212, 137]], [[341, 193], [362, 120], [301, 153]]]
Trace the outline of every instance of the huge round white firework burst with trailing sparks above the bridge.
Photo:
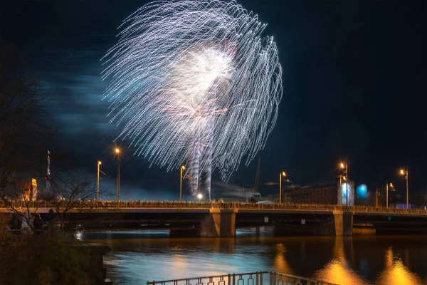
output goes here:
[[282, 95], [282, 68], [265, 24], [236, 1], [155, 1], [125, 19], [103, 58], [110, 122], [152, 164], [191, 165], [228, 180], [265, 145]]

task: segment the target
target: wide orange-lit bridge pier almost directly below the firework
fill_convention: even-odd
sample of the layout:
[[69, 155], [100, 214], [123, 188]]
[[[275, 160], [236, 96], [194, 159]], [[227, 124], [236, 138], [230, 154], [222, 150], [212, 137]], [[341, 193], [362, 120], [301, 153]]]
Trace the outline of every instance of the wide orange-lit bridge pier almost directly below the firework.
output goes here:
[[209, 209], [201, 221], [201, 237], [236, 237], [236, 212], [233, 209]]

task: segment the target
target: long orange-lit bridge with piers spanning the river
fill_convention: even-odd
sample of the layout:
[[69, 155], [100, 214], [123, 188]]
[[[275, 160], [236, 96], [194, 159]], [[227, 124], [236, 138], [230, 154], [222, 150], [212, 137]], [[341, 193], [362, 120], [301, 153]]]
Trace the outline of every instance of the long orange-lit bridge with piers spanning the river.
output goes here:
[[[43, 217], [50, 209], [65, 211], [60, 202], [16, 202]], [[4, 206], [4, 205], [3, 205]], [[0, 213], [14, 212], [0, 207]], [[251, 204], [218, 202], [75, 202], [65, 222], [85, 229], [169, 229], [177, 237], [235, 237], [236, 228], [273, 227], [275, 234], [427, 233], [423, 209], [345, 207], [325, 204]]]

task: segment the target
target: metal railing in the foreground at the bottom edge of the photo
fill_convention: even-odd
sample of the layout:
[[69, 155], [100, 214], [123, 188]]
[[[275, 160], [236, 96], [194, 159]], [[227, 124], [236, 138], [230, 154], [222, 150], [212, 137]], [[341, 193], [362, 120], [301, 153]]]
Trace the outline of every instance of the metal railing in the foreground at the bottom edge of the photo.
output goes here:
[[282, 274], [274, 271], [257, 271], [167, 281], [148, 281], [147, 285], [334, 285], [321, 280]]

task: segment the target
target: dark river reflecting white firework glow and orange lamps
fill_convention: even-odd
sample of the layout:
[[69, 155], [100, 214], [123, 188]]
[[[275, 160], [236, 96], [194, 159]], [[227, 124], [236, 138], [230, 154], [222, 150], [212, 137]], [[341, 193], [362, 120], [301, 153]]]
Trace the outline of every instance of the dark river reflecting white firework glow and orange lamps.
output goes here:
[[[81, 236], [80, 236], [81, 237]], [[106, 244], [114, 284], [253, 271], [278, 271], [334, 284], [427, 284], [425, 237], [269, 237], [171, 239], [164, 231], [86, 232]]]

